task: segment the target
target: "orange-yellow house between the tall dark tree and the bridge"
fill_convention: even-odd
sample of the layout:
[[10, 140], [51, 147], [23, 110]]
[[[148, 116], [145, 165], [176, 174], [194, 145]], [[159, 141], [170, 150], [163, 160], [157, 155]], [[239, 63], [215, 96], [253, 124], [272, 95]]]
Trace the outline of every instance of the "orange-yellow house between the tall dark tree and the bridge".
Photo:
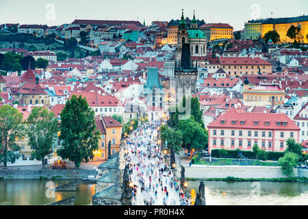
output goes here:
[[108, 159], [108, 143], [110, 142], [110, 155], [120, 151], [123, 125], [111, 116], [101, 116], [95, 120], [97, 130], [101, 132], [99, 150], [94, 151], [94, 160]]

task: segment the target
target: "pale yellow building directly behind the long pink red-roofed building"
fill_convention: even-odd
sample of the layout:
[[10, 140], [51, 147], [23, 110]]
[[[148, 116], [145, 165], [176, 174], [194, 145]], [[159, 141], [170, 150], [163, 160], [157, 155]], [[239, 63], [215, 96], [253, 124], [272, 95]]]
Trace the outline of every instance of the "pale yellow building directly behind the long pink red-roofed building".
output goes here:
[[243, 100], [247, 106], [283, 105], [285, 90], [276, 84], [265, 83], [259, 86], [244, 84]]

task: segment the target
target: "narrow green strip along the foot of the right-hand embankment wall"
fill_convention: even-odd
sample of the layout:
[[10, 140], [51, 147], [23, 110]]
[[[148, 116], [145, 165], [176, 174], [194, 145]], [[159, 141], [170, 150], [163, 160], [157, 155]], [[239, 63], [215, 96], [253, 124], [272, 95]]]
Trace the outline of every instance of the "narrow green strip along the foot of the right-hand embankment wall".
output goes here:
[[185, 178], [185, 181], [272, 181], [272, 182], [300, 182], [300, 183], [308, 183], [307, 177], [289, 177], [289, 178], [272, 178], [272, 179], [265, 179], [265, 178], [238, 178], [238, 177], [225, 177], [225, 178], [205, 178], [205, 179], [198, 179], [198, 178]]

